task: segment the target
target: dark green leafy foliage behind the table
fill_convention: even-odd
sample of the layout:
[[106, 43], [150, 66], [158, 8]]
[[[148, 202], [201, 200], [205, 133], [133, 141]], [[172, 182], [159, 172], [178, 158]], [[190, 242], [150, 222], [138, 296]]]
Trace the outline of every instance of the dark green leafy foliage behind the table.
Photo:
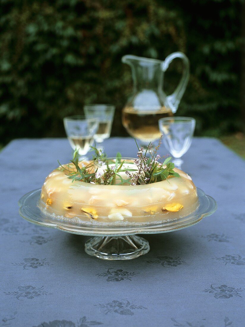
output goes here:
[[[1, 142], [62, 136], [62, 118], [87, 103], [115, 104], [112, 135], [127, 135], [132, 81], [121, 57], [174, 51], [191, 63], [178, 115], [197, 119], [197, 135], [239, 130], [240, 9], [238, 0], [2, 0]], [[166, 73], [169, 92], [180, 72], [177, 62]]]

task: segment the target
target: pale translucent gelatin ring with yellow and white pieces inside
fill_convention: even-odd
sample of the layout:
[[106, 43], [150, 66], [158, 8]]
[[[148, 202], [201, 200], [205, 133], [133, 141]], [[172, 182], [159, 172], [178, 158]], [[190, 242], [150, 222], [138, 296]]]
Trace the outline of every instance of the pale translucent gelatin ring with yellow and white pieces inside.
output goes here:
[[65, 220], [87, 223], [169, 221], [194, 212], [198, 206], [196, 186], [189, 175], [174, 168], [180, 177], [146, 185], [98, 185], [72, 182], [65, 170], [52, 171], [42, 187], [38, 206]]

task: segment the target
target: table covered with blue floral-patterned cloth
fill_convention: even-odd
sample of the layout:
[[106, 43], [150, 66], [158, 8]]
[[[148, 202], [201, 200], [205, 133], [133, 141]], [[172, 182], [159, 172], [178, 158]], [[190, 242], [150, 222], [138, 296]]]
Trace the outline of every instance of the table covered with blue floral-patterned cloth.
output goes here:
[[[131, 138], [105, 141], [134, 157]], [[218, 210], [197, 225], [143, 235], [150, 252], [104, 261], [86, 236], [28, 223], [17, 202], [71, 159], [66, 139], [19, 139], [0, 153], [0, 326], [244, 326], [245, 162], [212, 138], [194, 138], [183, 170]], [[160, 154], [166, 154], [161, 148]]]

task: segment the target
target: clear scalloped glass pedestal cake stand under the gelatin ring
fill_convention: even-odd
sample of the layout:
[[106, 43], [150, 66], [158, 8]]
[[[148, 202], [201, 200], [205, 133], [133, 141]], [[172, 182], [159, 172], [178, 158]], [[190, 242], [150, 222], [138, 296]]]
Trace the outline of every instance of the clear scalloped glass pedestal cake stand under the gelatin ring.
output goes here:
[[149, 252], [149, 242], [136, 234], [166, 233], [177, 231], [198, 223], [203, 217], [212, 215], [216, 201], [197, 189], [200, 205], [192, 214], [172, 221], [116, 225], [102, 224], [96, 221], [78, 223], [66, 221], [55, 216], [45, 215], [37, 207], [41, 189], [24, 195], [19, 200], [19, 214], [27, 221], [44, 227], [58, 228], [63, 232], [96, 236], [85, 243], [85, 252], [105, 260], [134, 259]]

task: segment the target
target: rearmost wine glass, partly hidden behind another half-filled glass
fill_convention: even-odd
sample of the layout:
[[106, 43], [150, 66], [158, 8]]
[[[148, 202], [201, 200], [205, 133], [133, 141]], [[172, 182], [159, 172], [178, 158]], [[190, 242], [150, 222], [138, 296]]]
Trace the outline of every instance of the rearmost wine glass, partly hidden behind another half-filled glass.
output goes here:
[[83, 109], [87, 119], [97, 118], [98, 120], [95, 141], [102, 143], [108, 139], [111, 135], [115, 107], [111, 104], [90, 104], [84, 106]]

